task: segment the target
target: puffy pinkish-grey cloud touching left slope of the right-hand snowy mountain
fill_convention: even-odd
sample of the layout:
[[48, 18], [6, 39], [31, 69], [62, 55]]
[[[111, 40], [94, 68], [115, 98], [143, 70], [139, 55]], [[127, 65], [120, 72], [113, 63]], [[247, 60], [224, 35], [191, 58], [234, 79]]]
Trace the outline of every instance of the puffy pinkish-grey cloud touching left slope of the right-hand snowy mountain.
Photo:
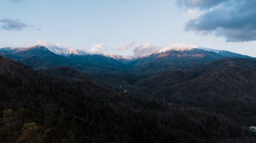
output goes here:
[[161, 47], [155, 46], [151, 42], [146, 42], [146, 43], [144, 43], [138, 47], [135, 47], [133, 49], [134, 58], [152, 54], [159, 49], [161, 49]]

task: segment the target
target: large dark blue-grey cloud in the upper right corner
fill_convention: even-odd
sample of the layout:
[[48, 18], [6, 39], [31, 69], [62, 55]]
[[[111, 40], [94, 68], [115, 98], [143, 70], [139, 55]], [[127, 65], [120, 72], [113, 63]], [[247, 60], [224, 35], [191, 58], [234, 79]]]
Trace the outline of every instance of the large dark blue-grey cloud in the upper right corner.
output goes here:
[[205, 10], [185, 24], [186, 31], [221, 36], [228, 42], [256, 40], [256, 1], [182, 0], [178, 5]]

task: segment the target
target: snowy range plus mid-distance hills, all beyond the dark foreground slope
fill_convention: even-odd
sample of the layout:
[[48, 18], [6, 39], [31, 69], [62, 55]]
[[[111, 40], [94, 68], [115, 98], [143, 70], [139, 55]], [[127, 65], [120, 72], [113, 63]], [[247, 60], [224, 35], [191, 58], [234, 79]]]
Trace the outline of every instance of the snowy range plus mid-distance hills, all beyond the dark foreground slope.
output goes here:
[[256, 103], [255, 59], [226, 50], [172, 47], [126, 59], [36, 45], [1, 48], [0, 55], [52, 76], [90, 80], [114, 92], [126, 90], [127, 94], [165, 98], [167, 102], [215, 107], [230, 102], [230, 109], [236, 102], [250, 109]]

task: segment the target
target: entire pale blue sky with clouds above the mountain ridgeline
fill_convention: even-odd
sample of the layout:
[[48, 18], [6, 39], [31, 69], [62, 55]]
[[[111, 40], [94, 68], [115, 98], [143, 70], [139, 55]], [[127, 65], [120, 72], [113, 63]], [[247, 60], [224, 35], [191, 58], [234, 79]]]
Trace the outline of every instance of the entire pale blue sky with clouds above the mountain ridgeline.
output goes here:
[[254, 0], [0, 0], [0, 47], [140, 56], [199, 45], [256, 57]]

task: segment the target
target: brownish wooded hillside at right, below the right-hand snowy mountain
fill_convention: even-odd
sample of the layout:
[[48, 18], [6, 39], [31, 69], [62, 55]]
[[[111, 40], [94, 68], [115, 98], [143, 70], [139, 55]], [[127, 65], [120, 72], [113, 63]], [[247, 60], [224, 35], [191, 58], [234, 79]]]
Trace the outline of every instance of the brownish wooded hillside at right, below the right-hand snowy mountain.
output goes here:
[[166, 102], [239, 112], [256, 110], [256, 60], [229, 58], [189, 70], [169, 71], [135, 83]]

